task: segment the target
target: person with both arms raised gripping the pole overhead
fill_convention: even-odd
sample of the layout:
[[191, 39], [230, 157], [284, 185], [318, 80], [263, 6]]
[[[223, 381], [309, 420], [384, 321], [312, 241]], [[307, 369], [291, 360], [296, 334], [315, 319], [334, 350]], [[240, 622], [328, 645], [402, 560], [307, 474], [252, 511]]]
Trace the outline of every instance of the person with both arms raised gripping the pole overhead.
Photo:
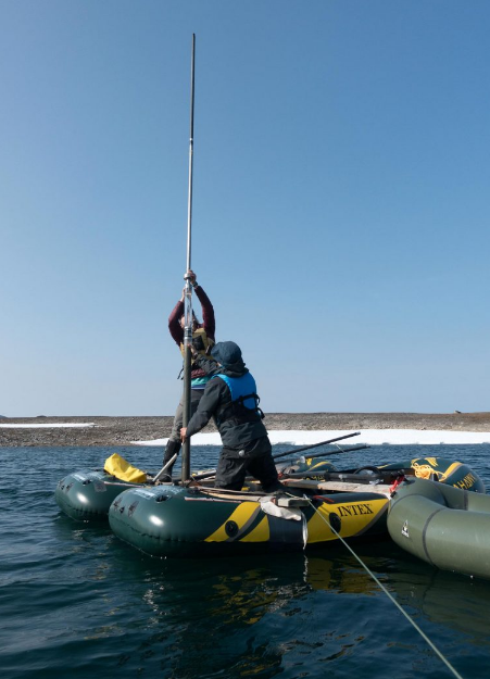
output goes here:
[[[192, 366], [190, 373], [190, 415], [192, 415], [199, 404], [199, 401], [204, 393], [204, 388], [208, 381], [211, 379], [206, 373], [196, 365], [194, 357], [199, 355], [206, 355], [206, 351], [214, 344], [214, 332], [215, 332], [215, 319], [214, 319], [214, 309], [210, 301], [210, 298], [201, 288], [201, 286], [197, 281], [197, 276], [192, 271], [188, 271], [184, 276], [185, 280], [190, 280], [190, 285], [196, 292], [196, 297], [201, 303], [202, 309], [202, 323], [199, 323], [196, 314], [192, 312]], [[176, 344], [180, 349], [180, 352], [184, 356], [184, 329], [185, 329], [185, 315], [184, 315], [184, 294], [185, 289], [183, 291], [183, 296], [180, 300], [175, 305], [172, 314], [168, 317], [168, 330], [175, 340]], [[180, 402], [177, 406], [177, 411], [174, 417], [174, 424], [172, 427], [172, 433], [169, 436], [168, 442], [165, 448], [165, 453], [163, 456], [163, 466], [172, 460], [175, 453], [179, 453], [181, 448], [180, 441], [180, 429], [183, 426], [183, 417], [184, 417], [184, 394], [180, 399]], [[172, 480], [172, 468], [174, 465], [171, 465], [167, 469], [167, 476], [163, 477], [162, 481]]]

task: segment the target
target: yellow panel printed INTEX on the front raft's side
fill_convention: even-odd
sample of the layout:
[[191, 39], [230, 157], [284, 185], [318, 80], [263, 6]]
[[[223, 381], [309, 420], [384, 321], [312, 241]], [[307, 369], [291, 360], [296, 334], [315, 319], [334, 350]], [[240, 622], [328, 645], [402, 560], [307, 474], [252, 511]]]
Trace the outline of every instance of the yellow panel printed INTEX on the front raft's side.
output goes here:
[[330, 514], [337, 514], [340, 519], [339, 536], [352, 538], [364, 532], [367, 526], [376, 520], [377, 515], [382, 513], [387, 504], [387, 498], [365, 502], [322, 504], [307, 523], [307, 544], [337, 540], [336, 533], [330, 528]]

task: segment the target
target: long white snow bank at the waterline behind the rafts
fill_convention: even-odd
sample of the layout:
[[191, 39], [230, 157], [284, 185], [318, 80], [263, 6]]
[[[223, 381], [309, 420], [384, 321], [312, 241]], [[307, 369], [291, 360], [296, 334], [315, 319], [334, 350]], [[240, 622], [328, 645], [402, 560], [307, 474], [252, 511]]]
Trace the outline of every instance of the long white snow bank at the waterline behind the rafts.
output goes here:
[[[335, 439], [351, 430], [343, 429], [329, 431], [312, 430], [286, 430], [268, 431], [271, 443], [287, 443], [288, 445], [309, 445]], [[153, 441], [131, 441], [136, 445], [165, 445], [168, 439], [156, 439]], [[490, 443], [490, 431], [427, 431], [417, 429], [363, 429], [359, 436], [339, 441], [340, 445], [354, 445], [366, 443], [368, 445], [438, 445], [445, 444], [475, 444]], [[197, 433], [192, 437], [193, 445], [221, 445], [219, 433]]]

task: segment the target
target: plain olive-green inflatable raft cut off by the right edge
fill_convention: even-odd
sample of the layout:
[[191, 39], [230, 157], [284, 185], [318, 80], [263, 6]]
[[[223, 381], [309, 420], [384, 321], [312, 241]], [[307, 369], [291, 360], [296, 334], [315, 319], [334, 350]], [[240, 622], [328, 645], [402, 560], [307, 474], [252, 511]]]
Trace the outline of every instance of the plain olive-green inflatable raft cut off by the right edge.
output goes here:
[[490, 578], [490, 495], [406, 479], [390, 502], [388, 531], [437, 568]]

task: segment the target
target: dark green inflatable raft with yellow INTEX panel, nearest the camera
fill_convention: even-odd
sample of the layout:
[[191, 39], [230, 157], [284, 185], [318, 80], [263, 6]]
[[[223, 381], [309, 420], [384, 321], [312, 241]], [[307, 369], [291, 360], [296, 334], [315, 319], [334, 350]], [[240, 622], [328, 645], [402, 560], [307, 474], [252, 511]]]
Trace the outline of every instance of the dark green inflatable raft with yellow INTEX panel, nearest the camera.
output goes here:
[[202, 487], [135, 488], [114, 500], [109, 523], [118, 538], [142, 552], [179, 557], [293, 552], [332, 542], [338, 535], [386, 533], [385, 494], [318, 492], [304, 498]]

